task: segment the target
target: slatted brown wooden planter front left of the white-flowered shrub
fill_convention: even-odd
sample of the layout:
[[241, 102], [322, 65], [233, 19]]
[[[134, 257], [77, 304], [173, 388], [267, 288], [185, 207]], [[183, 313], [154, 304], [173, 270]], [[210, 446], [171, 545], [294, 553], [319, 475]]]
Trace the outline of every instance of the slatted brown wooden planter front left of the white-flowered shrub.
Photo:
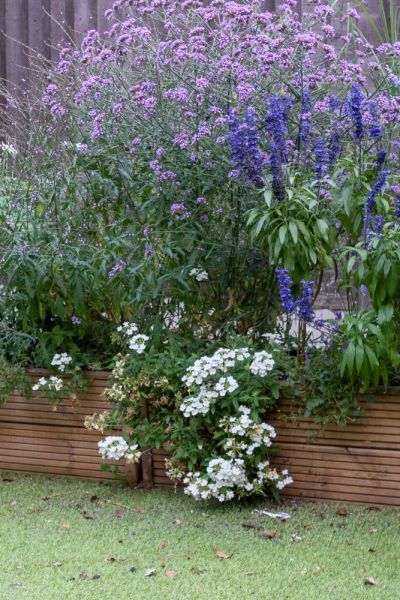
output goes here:
[[[32, 381], [47, 375], [30, 372]], [[101, 470], [97, 443], [104, 434], [88, 431], [85, 417], [110, 407], [103, 399], [109, 385], [109, 373], [88, 374], [87, 393], [75, 401], [64, 399], [51, 406], [35, 393], [26, 400], [14, 392], [0, 408], [0, 470], [30, 471], [68, 475], [90, 479], [113, 479], [111, 472]]]

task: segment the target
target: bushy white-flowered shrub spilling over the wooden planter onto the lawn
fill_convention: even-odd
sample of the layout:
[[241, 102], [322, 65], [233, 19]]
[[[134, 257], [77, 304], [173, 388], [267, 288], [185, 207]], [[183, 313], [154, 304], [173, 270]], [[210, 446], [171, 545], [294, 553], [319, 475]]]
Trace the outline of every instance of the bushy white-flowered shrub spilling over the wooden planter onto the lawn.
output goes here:
[[168, 338], [155, 347], [154, 336], [150, 341], [131, 323], [115, 339], [124, 352], [105, 392], [113, 409], [88, 417], [86, 426], [132, 433], [100, 442], [102, 458], [132, 462], [140, 448], [163, 446], [171, 452], [167, 474], [197, 500], [225, 502], [266, 490], [277, 496], [292, 482], [268, 455], [276, 432], [265, 416], [279, 396], [273, 345], [263, 340], [264, 348], [255, 348], [250, 339], [233, 338], [187, 357]]

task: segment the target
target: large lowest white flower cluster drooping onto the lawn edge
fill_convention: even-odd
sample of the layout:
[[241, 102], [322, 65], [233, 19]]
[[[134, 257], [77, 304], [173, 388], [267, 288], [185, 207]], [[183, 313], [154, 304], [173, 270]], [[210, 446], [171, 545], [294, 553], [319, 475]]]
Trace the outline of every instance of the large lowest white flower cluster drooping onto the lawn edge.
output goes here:
[[207, 474], [188, 473], [183, 480], [185, 494], [196, 500], [217, 498], [220, 502], [232, 500], [235, 488], [251, 491], [246, 476], [244, 461], [238, 459], [213, 458], [207, 465]]

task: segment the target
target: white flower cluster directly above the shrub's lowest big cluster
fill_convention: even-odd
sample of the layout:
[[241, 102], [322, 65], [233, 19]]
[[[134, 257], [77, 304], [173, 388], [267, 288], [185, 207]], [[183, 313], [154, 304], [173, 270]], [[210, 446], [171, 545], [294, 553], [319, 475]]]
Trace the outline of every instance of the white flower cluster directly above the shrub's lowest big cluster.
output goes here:
[[264, 446], [269, 448], [272, 439], [276, 437], [275, 429], [268, 423], [256, 423], [250, 417], [250, 409], [247, 406], [239, 406], [239, 416], [223, 419], [221, 428], [230, 437], [224, 444], [224, 450], [228, 456], [235, 458], [243, 453], [252, 456], [254, 450]]

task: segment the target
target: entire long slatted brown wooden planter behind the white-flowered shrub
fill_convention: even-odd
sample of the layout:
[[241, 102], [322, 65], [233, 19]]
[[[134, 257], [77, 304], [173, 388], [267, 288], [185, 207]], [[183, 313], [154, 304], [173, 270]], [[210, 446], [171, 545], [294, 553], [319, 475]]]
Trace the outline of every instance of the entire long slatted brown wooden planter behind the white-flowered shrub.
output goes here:
[[[38, 372], [37, 376], [43, 373]], [[28, 471], [110, 479], [100, 469], [97, 442], [103, 434], [84, 428], [84, 419], [109, 408], [102, 397], [108, 373], [90, 373], [88, 392], [57, 410], [35, 394], [13, 394], [0, 408], [0, 471]], [[272, 462], [287, 468], [291, 497], [400, 506], [400, 388], [363, 402], [364, 417], [323, 431], [312, 419], [298, 418], [296, 401], [282, 399], [269, 422], [277, 429]], [[171, 488], [163, 450], [146, 451], [139, 469], [127, 470], [131, 484]]]

